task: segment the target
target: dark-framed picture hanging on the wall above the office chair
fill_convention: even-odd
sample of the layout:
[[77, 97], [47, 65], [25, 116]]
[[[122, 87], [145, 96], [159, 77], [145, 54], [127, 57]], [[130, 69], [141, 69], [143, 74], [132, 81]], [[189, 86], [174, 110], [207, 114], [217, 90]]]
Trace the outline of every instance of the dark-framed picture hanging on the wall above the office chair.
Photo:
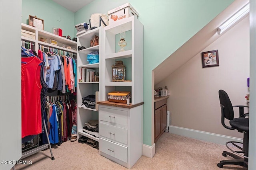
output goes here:
[[202, 65], [204, 67], [219, 66], [218, 50], [202, 52]]

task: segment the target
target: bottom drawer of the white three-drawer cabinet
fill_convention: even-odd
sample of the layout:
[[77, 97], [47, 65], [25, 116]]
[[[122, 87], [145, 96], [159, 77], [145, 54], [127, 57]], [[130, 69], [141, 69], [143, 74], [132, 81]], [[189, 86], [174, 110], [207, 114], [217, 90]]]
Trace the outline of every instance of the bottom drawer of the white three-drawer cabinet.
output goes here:
[[100, 138], [99, 148], [102, 152], [122, 160], [123, 162], [127, 162], [127, 147], [122, 145], [118, 145], [117, 143], [105, 140]]

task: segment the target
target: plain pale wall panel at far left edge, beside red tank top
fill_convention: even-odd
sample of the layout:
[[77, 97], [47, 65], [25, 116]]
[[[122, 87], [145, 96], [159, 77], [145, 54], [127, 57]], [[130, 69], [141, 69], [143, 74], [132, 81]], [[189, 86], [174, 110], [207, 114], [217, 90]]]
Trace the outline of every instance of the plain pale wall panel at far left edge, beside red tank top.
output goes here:
[[[21, 24], [22, 1], [0, 1], [0, 143], [2, 160], [21, 157]], [[5, 163], [5, 162], [4, 162]], [[11, 169], [13, 162], [0, 164]]]

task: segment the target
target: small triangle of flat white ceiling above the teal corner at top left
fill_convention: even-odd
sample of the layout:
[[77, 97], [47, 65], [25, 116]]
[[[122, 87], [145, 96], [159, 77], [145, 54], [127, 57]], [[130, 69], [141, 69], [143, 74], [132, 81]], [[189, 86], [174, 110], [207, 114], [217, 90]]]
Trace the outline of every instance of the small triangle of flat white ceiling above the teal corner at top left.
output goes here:
[[53, 0], [57, 4], [67, 8], [72, 12], [76, 12], [83, 8], [84, 6], [88, 5], [93, 0]]

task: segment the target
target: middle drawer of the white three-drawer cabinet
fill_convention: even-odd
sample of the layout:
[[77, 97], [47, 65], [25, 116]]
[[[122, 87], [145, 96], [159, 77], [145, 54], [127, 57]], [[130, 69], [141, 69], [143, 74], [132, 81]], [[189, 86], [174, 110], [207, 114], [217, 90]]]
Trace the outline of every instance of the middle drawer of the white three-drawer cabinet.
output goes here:
[[113, 125], [107, 125], [105, 123], [100, 123], [100, 127], [100, 136], [127, 145], [127, 129]]

